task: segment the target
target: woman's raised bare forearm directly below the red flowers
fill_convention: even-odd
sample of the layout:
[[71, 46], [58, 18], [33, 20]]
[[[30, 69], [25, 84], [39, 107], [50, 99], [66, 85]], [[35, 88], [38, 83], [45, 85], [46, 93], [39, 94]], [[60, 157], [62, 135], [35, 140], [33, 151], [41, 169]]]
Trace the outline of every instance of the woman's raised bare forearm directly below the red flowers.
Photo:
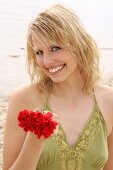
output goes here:
[[22, 149], [9, 170], [36, 170], [44, 146], [44, 139], [38, 140], [32, 133], [28, 133]]

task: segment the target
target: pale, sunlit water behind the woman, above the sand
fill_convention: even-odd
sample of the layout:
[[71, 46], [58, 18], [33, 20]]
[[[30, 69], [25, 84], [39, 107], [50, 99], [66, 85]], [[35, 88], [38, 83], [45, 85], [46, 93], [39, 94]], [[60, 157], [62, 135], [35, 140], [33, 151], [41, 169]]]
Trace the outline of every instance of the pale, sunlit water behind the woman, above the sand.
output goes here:
[[[0, 0], [0, 96], [29, 82], [25, 70], [26, 33], [29, 23], [42, 9], [64, 3], [76, 10], [87, 30], [101, 48], [103, 77], [113, 77], [113, 0]], [[93, 3], [93, 5], [92, 5]]]

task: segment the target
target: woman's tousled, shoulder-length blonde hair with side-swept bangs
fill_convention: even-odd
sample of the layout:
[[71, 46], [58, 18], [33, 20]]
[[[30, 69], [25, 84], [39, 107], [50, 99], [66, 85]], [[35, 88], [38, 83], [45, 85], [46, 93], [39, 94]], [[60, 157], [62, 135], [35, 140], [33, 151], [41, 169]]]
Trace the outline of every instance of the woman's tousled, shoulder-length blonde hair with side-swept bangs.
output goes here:
[[49, 92], [52, 80], [38, 67], [32, 44], [32, 34], [48, 44], [63, 45], [79, 64], [84, 80], [83, 92], [90, 94], [99, 78], [99, 52], [93, 38], [87, 33], [78, 16], [67, 7], [54, 5], [40, 13], [31, 23], [27, 37], [27, 64], [32, 82], [43, 92]]

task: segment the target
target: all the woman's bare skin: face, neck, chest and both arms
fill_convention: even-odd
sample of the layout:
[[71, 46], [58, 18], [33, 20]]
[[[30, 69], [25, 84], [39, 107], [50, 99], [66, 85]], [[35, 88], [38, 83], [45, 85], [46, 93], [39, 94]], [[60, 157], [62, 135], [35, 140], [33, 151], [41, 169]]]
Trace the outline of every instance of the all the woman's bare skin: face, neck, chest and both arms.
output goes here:
[[[83, 80], [78, 70], [78, 62], [68, 49], [38, 44], [36, 37], [33, 37], [33, 44], [38, 66], [54, 82], [49, 105], [53, 113], [58, 115], [69, 145], [73, 145], [93, 110], [94, 98], [82, 93]], [[94, 93], [108, 131], [109, 159], [104, 170], [112, 170], [113, 88], [96, 85]], [[12, 96], [4, 135], [3, 170], [36, 169], [46, 140], [37, 140], [31, 133], [26, 135], [18, 127], [17, 115], [25, 108], [41, 108], [44, 99], [45, 96], [38, 88], [31, 85], [17, 90]]]

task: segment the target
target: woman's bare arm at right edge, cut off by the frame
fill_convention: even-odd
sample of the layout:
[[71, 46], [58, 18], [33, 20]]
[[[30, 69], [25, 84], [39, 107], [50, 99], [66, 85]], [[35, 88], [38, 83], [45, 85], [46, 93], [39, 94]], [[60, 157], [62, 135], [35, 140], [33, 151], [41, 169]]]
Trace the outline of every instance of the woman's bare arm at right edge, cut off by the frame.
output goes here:
[[106, 121], [108, 129], [108, 161], [104, 170], [113, 170], [113, 87], [98, 86], [96, 99]]

